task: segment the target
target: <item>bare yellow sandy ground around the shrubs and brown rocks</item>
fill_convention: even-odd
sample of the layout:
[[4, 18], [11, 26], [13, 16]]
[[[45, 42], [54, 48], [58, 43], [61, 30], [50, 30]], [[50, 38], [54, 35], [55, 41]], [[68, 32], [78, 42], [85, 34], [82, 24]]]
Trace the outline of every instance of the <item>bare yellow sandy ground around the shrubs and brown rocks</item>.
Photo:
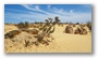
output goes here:
[[[24, 47], [22, 42], [12, 42], [11, 39], [4, 39], [5, 53], [91, 53], [91, 33], [86, 35], [63, 33], [64, 27], [56, 26], [52, 33], [54, 40], [49, 45], [30, 45]], [[4, 26], [4, 33], [17, 29], [14, 26]], [[75, 28], [74, 28], [75, 29]], [[26, 35], [22, 32], [21, 35]]]

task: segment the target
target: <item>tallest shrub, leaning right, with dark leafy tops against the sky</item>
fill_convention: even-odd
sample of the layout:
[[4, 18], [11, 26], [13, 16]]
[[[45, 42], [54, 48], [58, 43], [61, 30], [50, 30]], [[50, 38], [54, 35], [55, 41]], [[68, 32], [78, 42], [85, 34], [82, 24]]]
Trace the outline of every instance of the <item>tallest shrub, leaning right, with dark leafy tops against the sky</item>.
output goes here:
[[[42, 39], [47, 34], [50, 35], [50, 33], [53, 33], [54, 32], [54, 25], [58, 24], [60, 20], [59, 20], [59, 17], [56, 16], [54, 21], [52, 21], [51, 18], [48, 18], [45, 21], [46, 21], [46, 24], [41, 28], [42, 32], [38, 35], [38, 42], [42, 42], [44, 41]], [[53, 29], [51, 30], [52, 27], [53, 27]]]

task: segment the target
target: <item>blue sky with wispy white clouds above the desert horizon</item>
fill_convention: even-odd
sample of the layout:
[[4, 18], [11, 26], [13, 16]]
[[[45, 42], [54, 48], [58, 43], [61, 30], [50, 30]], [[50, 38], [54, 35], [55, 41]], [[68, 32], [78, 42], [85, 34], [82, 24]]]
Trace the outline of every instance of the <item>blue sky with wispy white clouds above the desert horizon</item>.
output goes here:
[[45, 21], [56, 16], [62, 23], [91, 21], [91, 4], [4, 4], [4, 23]]

